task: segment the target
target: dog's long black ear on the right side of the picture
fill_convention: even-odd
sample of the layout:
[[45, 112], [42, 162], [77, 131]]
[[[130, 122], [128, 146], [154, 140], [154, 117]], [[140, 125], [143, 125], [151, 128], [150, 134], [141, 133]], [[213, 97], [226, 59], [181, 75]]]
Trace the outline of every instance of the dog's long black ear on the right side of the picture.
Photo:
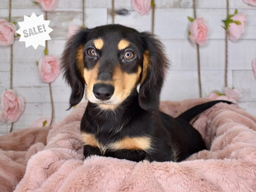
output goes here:
[[139, 104], [147, 111], [157, 111], [169, 62], [163, 44], [151, 33], [142, 32], [144, 44], [143, 70], [140, 81]]

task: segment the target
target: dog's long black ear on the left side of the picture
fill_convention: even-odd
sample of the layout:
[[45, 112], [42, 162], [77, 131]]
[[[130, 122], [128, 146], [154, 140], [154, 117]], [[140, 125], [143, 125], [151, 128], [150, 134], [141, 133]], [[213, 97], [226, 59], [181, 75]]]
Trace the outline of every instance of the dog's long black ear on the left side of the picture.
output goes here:
[[[84, 96], [84, 52], [90, 29], [81, 28], [67, 42], [61, 57], [61, 69], [72, 92], [70, 108], [77, 105]], [[69, 108], [69, 109], [70, 109]]]

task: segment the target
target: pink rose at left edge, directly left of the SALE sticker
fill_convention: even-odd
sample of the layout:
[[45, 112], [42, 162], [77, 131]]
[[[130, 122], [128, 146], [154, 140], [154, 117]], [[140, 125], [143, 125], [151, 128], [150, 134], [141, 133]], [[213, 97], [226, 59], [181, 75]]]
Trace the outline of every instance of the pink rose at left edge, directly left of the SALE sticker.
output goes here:
[[13, 23], [8, 23], [0, 19], [0, 45], [7, 46], [13, 44], [16, 27]]

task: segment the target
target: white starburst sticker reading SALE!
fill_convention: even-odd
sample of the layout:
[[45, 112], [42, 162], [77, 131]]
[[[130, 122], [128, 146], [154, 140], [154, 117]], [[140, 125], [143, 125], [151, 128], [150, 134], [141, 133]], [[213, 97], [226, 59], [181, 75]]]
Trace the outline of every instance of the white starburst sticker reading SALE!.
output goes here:
[[44, 20], [44, 15], [36, 16], [33, 12], [30, 17], [24, 15], [24, 21], [18, 22], [20, 29], [16, 32], [20, 34], [19, 41], [25, 41], [26, 47], [32, 45], [35, 49], [38, 45], [45, 47], [45, 41], [51, 40], [49, 33], [49, 20]]

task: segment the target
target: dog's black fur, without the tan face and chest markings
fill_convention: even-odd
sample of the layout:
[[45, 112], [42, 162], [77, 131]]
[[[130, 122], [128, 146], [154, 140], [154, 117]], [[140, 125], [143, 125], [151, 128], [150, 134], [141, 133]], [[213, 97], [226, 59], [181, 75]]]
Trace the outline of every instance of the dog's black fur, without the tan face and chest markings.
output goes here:
[[[115, 110], [102, 110], [98, 104], [88, 102], [81, 119], [81, 131], [94, 135], [103, 146], [124, 138], [148, 137], [151, 139], [151, 148], [149, 150], [107, 149], [102, 151], [96, 146], [84, 145], [84, 156], [95, 154], [133, 161], [144, 159], [182, 161], [189, 155], [206, 149], [200, 133], [189, 124], [189, 121], [216, 103], [230, 104], [230, 102], [213, 101], [197, 105], [177, 118], [159, 111], [160, 92], [169, 63], [163, 53], [161, 42], [148, 32], [140, 33], [121, 25], [107, 25], [93, 29], [80, 29], [76, 35], [73, 35], [62, 56], [64, 77], [72, 88], [70, 107], [78, 104], [84, 95], [85, 81], [77, 67], [77, 49], [99, 37], [108, 41], [110, 49], [111, 46], [112, 48], [116, 46], [116, 44], [111, 45], [113, 42], [123, 38], [136, 45], [134, 49], [137, 50], [137, 67], [143, 67], [143, 53], [148, 51], [149, 67], [146, 71], [146, 79], [140, 85], [139, 93], [135, 86], [131, 94]], [[112, 59], [113, 65], [115, 62], [121, 62], [114, 55], [114, 51], [105, 54], [100, 61], [104, 63]], [[85, 68], [89, 70], [91, 65], [90, 61], [84, 59]], [[104, 67], [103, 64], [102, 66]], [[100, 70], [111, 68], [111, 66], [110, 68], [103, 67]], [[131, 65], [122, 65], [125, 73], [132, 73], [136, 69], [131, 68]]]

